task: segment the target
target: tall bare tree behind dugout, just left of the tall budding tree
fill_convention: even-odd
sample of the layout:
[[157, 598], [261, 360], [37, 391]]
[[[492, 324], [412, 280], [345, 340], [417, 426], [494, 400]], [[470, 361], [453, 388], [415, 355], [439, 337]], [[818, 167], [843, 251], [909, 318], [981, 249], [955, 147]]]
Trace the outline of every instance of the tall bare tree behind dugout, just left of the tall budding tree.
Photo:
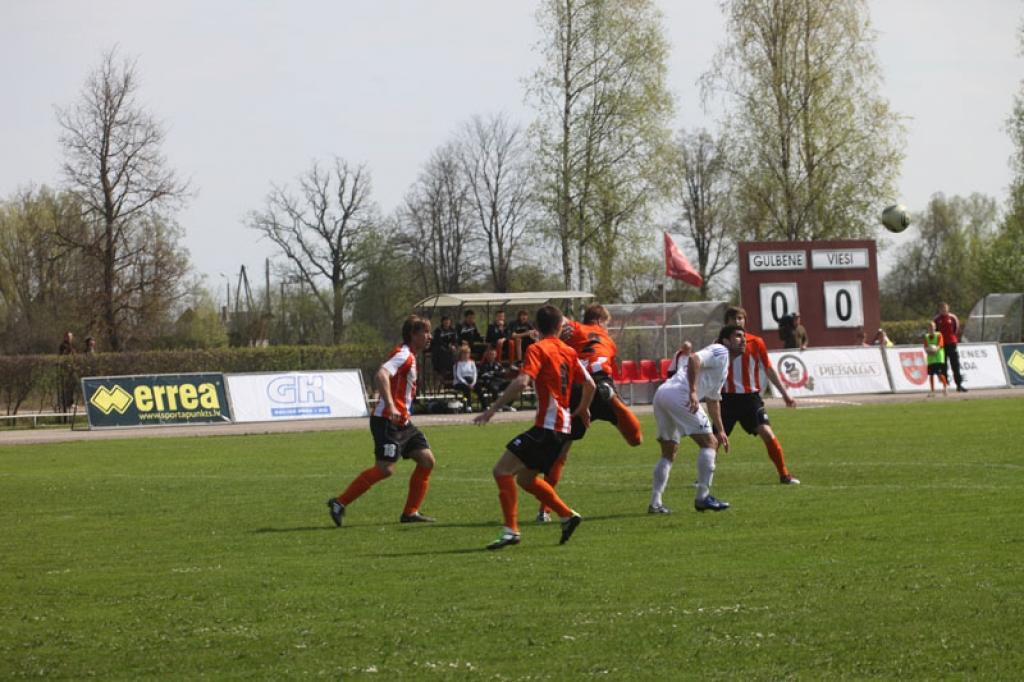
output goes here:
[[503, 115], [474, 117], [459, 141], [473, 209], [486, 242], [490, 284], [507, 292], [512, 259], [529, 221], [529, 175], [522, 130]]

